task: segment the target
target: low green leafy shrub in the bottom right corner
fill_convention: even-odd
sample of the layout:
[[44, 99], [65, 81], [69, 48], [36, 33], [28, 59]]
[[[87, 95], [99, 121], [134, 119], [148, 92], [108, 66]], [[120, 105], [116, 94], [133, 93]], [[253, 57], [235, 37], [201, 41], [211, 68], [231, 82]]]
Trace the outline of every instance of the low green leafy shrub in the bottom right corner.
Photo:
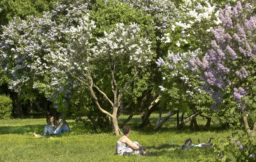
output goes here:
[[243, 130], [233, 133], [228, 139], [222, 140], [215, 147], [221, 162], [252, 162], [256, 160], [256, 140]]

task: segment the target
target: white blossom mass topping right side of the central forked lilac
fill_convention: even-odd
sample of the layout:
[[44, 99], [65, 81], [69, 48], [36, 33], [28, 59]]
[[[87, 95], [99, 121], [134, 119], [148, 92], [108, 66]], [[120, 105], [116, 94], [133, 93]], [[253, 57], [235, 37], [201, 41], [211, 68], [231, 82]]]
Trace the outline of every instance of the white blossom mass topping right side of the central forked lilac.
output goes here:
[[140, 28], [132, 23], [128, 28], [123, 23], [117, 23], [113, 32], [105, 32], [104, 38], [97, 39], [97, 46], [92, 49], [93, 57], [105, 55], [118, 58], [121, 55], [129, 55], [130, 62], [144, 66], [151, 59], [151, 42], [140, 37]]

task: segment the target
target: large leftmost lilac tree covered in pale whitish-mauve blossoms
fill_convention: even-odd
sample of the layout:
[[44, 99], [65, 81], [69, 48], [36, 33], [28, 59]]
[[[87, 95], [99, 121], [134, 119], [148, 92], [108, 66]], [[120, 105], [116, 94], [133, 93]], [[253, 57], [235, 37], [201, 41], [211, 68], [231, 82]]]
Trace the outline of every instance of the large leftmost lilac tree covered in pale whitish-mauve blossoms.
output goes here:
[[10, 79], [9, 88], [21, 97], [35, 98], [39, 93], [49, 98], [58, 90], [56, 80], [64, 78], [46, 58], [62, 44], [65, 46], [65, 28], [76, 25], [78, 18], [88, 12], [88, 4], [67, 5], [64, 1], [56, 6], [42, 18], [14, 18], [8, 26], [3, 26], [1, 65]]

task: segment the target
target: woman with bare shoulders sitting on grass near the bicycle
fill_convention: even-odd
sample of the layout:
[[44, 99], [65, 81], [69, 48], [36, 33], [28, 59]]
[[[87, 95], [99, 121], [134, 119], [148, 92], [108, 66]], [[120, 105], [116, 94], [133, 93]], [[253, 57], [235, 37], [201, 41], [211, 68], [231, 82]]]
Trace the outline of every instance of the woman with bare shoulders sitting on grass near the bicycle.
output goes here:
[[128, 139], [128, 136], [131, 133], [131, 128], [129, 126], [124, 126], [122, 128], [122, 132], [124, 135], [116, 143], [117, 154], [126, 156], [129, 154], [145, 155], [147, 153], [152, 153], [151, 151], [146, 152], [146, 148], [140, 145], [138, 142], [132, 142], [130, 139]]

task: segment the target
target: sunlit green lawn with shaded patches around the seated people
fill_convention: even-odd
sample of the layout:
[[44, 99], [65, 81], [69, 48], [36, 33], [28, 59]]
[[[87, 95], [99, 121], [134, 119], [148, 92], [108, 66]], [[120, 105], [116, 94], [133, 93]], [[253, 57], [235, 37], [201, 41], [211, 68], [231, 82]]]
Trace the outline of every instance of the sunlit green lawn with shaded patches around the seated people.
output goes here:
[[[121, 124], [128, 116], [121, 116]], [[181, 151], [181, 145], [188, 138], [192, 138], [197, 144], [197, 139], [207, 142], [209, 137], [215, 137], [214, 141], [225, 139], [233, 130], [220, 130], [219, 125], [213, 124], [210, 131], [192, 132], [188, 124], [183, 130], [175, 130], [176, 116], [169, 119], [158, 132], [153, 132], [157, 114], [151, 115], [151, 126], [142, 130], [134, 127], [141, 122], [140, 116], [134, 116], [127, 124], [131, 130], [129, 138], [145, 146], [147, 150], [154, 152], [150, 156], [119, 156], [114, 155], [116, 141], [119, 137], [113, 132], [93, 130], [85, 127], [83, 123], [67, 120], [71, 127], [71, 133], [58, 136], [34, 137], [32, 133], [44, 131], [45, 119], [12, 119], [0, 120], [0, 161], [79, 161], [79, 162], [113, 162], [113, 161], [143, 161], [143, 162], [191, 162], [197, 161], [199, 152], [196, 148]], [[202, 128], [205, 120], [198, 118], [198, 124]], [[172, 140], [179, 149], [172, 147]], [[216, 153], [213, 148], [199, 149], [204, 155], [210, 155], [213, 160]]]

